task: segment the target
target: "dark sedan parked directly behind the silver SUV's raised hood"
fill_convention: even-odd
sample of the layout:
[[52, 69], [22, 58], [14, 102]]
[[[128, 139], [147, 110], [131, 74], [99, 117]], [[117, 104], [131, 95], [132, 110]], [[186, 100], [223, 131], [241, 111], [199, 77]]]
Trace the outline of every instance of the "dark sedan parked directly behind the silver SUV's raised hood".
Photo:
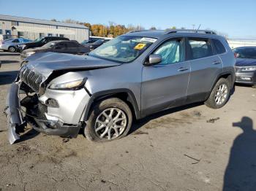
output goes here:
[[25, 58], [28, 58], [30, 55], [34, 55], [34, 53], [37, 52], [59, 52], [73, 55], [85, 55], [86, 53], [90, 52], [90, 48], [84, 47], [82, 44], [79, 44], [76, 41], [52, 41], [48, 42], [42, 47], [23, 50], [20, 53], [20, 58], [24, 60]]

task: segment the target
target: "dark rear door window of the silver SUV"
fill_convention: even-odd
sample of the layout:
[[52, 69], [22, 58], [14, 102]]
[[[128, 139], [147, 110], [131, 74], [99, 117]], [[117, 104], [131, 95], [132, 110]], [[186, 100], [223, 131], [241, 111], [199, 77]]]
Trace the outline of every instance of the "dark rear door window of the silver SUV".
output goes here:
[[204, 58], [213, 55], [208, 39], [189, 39], [189, 54], [191, 59]]

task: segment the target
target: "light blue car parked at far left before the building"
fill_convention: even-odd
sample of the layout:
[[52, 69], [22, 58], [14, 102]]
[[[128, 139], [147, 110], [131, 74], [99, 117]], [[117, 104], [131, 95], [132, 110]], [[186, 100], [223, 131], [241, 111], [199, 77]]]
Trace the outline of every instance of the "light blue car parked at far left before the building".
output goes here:
[[16, 39], [5, 39], [0, 42], [0, 50], [8, 50], [9, 52], [16, 52], [18, 44], [31, 42], [29, 39], [16, 38]]

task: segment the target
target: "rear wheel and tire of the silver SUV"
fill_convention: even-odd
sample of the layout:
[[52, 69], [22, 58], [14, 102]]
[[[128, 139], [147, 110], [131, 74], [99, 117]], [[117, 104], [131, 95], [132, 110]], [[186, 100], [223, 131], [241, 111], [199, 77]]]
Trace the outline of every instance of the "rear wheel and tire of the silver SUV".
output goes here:
[[225, 78], [220, 78], [211, 90], [211, 94], [205, 101], [206, 106], [212, 109], [219, 109], [225, 106], [230, 97], [230, 82]]

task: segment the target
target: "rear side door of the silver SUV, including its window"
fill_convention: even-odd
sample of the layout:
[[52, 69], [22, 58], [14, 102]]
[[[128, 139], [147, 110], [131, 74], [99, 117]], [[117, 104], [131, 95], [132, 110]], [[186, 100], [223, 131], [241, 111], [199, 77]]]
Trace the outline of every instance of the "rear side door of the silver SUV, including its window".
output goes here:
[[222, 72], [222, 61], [214, 55], [211, 39], [187, 38], [186, 47], [191, 67], [187, 101], [204, 101]]

